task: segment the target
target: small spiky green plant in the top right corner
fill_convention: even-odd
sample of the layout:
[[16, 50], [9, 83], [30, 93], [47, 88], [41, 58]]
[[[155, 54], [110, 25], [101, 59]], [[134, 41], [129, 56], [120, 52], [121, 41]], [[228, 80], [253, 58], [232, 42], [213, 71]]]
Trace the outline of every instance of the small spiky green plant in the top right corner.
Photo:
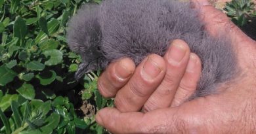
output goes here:
[[256, 16], [255, 4], [251, 0], [232, 0], [224, 7], [234, 24], [242, 27]]

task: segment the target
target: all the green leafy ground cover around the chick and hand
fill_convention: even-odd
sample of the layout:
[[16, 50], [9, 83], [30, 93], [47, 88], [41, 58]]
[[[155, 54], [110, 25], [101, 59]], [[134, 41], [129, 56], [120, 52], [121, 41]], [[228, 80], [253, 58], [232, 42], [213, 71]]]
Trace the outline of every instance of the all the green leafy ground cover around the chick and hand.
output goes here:
[[[76, 82], [81, 58], [65, 38], [77, 9], [100, 1], [0, 0], [0, 133], [108, 133], [94, 119], [113, 106], [96, 90], [100, 71]], [[233, 0], [224, 10], [242, 27], [255, 17], [253, 7]]]

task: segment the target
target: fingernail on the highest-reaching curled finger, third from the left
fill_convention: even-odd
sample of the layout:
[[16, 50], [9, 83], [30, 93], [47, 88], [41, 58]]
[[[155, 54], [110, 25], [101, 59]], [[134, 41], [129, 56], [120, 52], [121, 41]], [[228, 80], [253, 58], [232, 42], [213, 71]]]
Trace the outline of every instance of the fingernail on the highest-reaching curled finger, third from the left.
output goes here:
[[172, 44], [169, 48], [168, 59], [174, 64], [181, 62], [186, 54], [186, 48], [183, 44]]

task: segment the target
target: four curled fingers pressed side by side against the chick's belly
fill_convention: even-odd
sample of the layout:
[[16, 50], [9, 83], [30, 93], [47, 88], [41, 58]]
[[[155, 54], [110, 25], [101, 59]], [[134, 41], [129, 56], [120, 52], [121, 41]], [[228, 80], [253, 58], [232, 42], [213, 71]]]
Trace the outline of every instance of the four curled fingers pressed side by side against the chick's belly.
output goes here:
[[179, 105], [196, 90], [200, 72], [200, 59], [190, 54], [186, 42], [175, 40], [164, 58], [150, 55], [136, 70], [128, 58], [110, 64], [98, 80], [98, 89], [104, 97], [116, 96], [115, 105], [121, 112], [142, 107], [146, 112]]

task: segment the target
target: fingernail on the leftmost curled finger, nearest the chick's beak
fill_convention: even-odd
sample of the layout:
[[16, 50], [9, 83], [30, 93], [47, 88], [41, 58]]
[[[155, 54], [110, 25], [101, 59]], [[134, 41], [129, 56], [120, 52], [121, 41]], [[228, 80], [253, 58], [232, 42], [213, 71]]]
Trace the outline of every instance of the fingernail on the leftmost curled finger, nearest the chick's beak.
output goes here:
[[133, 74], [133, 66], [129, 64], [129, 62], [125, 61], [125, 59], [121, 59], [116, 66], [116, 76], [121, 79], [128, 78]]

